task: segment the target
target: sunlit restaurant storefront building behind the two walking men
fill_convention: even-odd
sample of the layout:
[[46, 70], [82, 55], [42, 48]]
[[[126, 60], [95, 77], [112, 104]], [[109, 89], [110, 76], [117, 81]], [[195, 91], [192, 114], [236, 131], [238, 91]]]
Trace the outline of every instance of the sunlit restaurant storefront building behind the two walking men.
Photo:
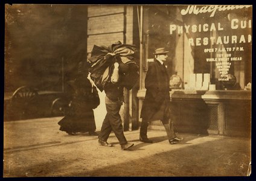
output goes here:
[[165, 47], [177, 131], [251, 135], [251, 5], [88, 6], [88, 56], [93, 45], [117, 40], [139, 48], [139, 84], [126, 90], [126, 129], [138, 129], [147, 67], [154, 50]]

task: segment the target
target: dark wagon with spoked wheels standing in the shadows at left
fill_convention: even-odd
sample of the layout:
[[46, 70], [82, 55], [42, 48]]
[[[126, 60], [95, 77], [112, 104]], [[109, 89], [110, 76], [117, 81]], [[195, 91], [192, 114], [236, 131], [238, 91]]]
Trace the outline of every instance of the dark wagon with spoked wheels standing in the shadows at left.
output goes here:
[[67, 92], [37, 90], [22, 86], [4, 98], [4, 121], [64, 116], [72, 100], [72, 87]]

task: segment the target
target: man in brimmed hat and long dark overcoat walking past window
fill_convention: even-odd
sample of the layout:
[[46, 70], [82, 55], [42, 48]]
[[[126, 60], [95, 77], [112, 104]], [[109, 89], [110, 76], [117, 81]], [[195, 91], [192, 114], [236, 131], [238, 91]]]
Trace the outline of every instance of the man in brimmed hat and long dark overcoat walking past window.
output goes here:
[[145, 78], [146, 96], [141, 109], [141, 129], [139, 140], [152, 143], [147, 138], [147, 126], [150, 121], [161, 120], [167, 132], [170, 144], [176, 144], [183, 138], [178, 138], [174, 133], [170, 119], [170, 86], [167, 68], [164, 62], [167, 60], [167, 52], [164, 48], [155, 50], [155, 59], [149, 65]]

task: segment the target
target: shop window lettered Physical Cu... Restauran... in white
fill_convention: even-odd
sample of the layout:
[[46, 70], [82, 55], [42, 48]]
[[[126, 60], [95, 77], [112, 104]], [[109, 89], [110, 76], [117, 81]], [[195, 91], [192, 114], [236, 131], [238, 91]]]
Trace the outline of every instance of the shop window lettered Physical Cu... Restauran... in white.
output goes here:
[[167, 47], [180, 88], [242, 90], [251, 83], [252, 5], [162, 5], [144, 15], [147, 59]]

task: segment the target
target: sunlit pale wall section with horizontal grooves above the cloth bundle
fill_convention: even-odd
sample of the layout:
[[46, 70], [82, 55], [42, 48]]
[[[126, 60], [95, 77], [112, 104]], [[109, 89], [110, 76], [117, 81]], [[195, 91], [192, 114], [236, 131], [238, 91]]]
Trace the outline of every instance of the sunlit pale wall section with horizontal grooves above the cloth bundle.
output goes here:
[[88, 57], [94, 45], [133, 42], [132, 5], [88, 6]]

